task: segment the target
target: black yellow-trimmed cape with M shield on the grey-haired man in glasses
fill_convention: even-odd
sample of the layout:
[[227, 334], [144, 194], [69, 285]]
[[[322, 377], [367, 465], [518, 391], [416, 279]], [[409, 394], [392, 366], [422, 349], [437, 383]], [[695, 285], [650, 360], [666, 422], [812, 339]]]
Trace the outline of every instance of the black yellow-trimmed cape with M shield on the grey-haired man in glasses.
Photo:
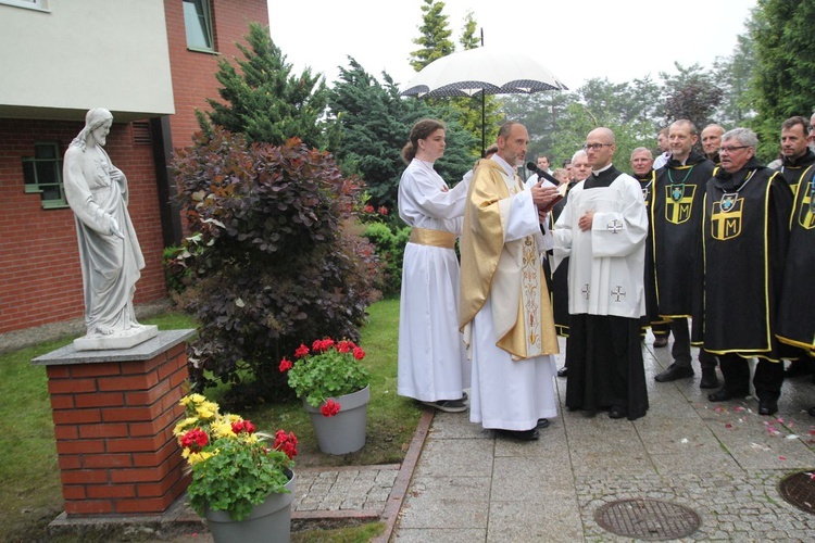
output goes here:
[[704, 312], [693, 316], [694, 340], [713, 354], [779, 361], [775, 324], [792, 191], [752, 159], [732, 175], [718, 171], [704, 205]]

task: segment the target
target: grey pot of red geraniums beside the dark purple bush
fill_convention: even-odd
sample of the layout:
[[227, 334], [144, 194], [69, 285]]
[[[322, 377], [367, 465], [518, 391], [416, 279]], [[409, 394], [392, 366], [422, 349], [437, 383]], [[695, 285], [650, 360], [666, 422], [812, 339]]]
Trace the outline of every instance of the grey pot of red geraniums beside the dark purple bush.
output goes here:
[[346, 454], [365, 445], [371, 374], [361, 362], [365, 351], [352, 341], [316, 340], [301, 344], [294, 362], [284, 357], [279, 369], [311, 416], [319, 450]]

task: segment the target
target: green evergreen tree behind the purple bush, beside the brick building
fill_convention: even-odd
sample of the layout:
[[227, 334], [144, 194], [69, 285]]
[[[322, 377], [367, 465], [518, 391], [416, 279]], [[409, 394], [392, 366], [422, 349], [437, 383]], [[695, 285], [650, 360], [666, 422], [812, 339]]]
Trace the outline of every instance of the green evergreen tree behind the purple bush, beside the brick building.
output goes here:
[[[244, 59], [235, 59], [240, 73], [227, 60], [218, 62], [215, 74], [221, 99], [208, 99], [212, 112], [209, 122], [231, 132], [241, 132], [248, 141], [283, 144], [298, 136], [306, 146], [325, 148], [326, 136], [319, 121], [327, 105], [327, 89], [322, 75], [306, 68], [292, 75], [291, 64], [272, 41], [268, 27], [250, 23], [249, 47], [237, 43]], [[208, 122], [199, 114], [208, 130]]]

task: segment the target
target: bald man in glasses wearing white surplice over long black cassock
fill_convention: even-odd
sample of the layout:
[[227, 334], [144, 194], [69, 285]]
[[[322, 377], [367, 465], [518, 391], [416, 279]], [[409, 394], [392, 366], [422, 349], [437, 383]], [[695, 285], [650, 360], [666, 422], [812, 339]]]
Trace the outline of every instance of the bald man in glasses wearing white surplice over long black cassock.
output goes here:
[[639, 337], [648, 212], [640, 184], [612, 164], [614, 132], [595, 128], [584, 148], [591, 175], [553, 232], [555, 268], [570, 257], [566, 406], [634, 420], [648, 411]]

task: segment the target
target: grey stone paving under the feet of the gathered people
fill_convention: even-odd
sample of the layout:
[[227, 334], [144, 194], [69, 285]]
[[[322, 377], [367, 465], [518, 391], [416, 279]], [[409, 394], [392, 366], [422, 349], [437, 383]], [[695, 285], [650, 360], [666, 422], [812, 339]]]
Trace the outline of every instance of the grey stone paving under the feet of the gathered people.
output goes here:
[[[699, 371], [655, 382], [669, 349], [649, 340], [643, 353], [651, 408], [636, 421], [587, 418], [561, 405], [539, 441], [517, 443], [466, 414], [437, 414], [392, 540], [631, 541], [604, 530], [595, 512], [653, 498], [700, 516], [682, 541], [815, 541], [815, 516], [777, 489], [788, 473], [815, 468], [808, 378], [786, 382], [779, 414], [762, 417], [754, 399], [709, 402]], [[566, 380], [556, 384], [562, 403]]]

